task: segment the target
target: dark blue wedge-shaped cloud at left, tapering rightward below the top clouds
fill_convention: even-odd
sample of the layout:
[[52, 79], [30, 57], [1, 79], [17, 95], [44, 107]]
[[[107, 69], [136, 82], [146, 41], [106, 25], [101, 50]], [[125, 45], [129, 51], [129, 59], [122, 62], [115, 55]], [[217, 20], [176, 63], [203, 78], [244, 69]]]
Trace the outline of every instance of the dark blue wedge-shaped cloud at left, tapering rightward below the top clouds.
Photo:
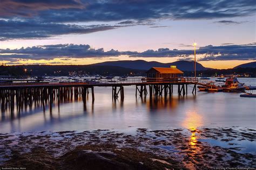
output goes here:
[[[63, 34], [86, 34], [116, 29], [111, 25], [71, 25], [0, 20], [0, 40], [40, 39]], [[11, 31], [10, 31], [11, 30]]]

